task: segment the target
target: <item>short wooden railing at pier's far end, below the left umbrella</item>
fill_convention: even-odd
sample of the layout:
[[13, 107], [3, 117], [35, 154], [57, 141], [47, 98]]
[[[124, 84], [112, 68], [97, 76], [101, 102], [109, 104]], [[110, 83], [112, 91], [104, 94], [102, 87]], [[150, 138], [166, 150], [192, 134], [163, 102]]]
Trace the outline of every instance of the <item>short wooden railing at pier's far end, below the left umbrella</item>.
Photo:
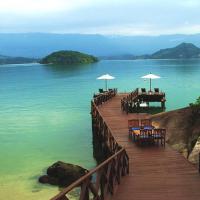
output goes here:
[[114, 97], [117, 94], [117, 89], [114, 88], [108, 92], [100, 93], [100, 94], [95, 94], [94, 95], [94, 103], [95, 105], [99, 106]]

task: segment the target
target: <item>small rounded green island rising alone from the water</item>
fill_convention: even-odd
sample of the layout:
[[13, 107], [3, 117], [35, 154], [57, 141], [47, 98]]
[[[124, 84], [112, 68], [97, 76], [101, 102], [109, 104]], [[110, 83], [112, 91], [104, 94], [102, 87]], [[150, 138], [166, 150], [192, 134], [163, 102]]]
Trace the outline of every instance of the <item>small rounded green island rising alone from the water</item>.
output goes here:
[[98, 58], [78, 51], [57, 51], [43, 58], [41, 64], [89, 64], [97, 62]]

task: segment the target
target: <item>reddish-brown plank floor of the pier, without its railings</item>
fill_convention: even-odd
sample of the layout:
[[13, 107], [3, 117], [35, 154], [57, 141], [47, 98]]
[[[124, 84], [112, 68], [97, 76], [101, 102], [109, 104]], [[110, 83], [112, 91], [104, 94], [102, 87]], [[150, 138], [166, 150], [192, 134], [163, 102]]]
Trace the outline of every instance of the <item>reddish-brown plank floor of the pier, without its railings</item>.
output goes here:
[[147, 118], [147, 114], [122, 113], [123, 94], [99, 106], [117, 142], [125, 147], [130, 174], [122, 179], [112, 200], [199, 200], [200, 175], [181, 154], [168, 145], [138, 147], [128, 139], [128, 119]]

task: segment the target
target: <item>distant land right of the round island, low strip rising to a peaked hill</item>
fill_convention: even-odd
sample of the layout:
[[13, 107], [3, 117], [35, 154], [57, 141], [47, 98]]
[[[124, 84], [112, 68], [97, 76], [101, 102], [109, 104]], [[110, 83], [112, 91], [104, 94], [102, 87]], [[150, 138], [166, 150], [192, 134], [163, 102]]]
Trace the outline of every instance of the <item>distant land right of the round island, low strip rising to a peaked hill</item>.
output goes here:
[[131, 54], [118, 56], [104, 56], [102, 59], [136, 60], [136, 59], [190, 59], [200, 58], [200, 48], [192, 43], [181, 43], [174, 48], [161, 49], [151, 55], [134, 56]]

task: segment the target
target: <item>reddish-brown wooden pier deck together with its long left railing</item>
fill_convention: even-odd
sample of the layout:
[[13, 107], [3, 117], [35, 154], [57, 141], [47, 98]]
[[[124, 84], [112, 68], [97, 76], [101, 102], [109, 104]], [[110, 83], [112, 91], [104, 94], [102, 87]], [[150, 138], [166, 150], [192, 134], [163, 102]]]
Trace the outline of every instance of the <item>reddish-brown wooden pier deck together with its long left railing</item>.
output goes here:
[[[68, 192], [80, 185], [81, 200], [200, 199], [198, 169], [181, 154], [167, 144], [141, 147], [129, 139], [128, 120], [148, 119], [150, 115], [123, 112], [121, 99], [126, 95], [112, 93], [101, 97], [106, 99], [103, 102], [95, 99], [97, 105], [92, 102], [93, 134], [108, 159], [53, 200], [67, 200]], [[97, 178], [91, 181], [93, 175]]]

